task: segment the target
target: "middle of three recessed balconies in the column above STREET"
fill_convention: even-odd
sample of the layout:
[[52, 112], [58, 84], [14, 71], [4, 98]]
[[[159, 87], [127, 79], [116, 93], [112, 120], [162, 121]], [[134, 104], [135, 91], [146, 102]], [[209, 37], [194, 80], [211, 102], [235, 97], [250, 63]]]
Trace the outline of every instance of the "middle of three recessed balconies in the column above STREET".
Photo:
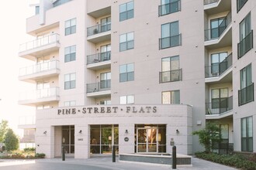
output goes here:
[[97, 53], [87, 56], [87, 68], [92, 70], [101, 70], [110, 68], [111, 51]]

